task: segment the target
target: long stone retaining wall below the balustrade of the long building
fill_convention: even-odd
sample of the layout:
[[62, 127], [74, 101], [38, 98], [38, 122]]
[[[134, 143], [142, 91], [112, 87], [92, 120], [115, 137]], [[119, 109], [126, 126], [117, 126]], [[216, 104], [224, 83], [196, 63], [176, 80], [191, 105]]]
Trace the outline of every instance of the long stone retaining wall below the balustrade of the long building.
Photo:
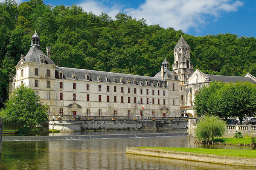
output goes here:
[[184, 129], [187, 121], [166, 120], [49, 120], [49, 130], [62, 132], [86, 130], [157, 130], [157, 129]]

